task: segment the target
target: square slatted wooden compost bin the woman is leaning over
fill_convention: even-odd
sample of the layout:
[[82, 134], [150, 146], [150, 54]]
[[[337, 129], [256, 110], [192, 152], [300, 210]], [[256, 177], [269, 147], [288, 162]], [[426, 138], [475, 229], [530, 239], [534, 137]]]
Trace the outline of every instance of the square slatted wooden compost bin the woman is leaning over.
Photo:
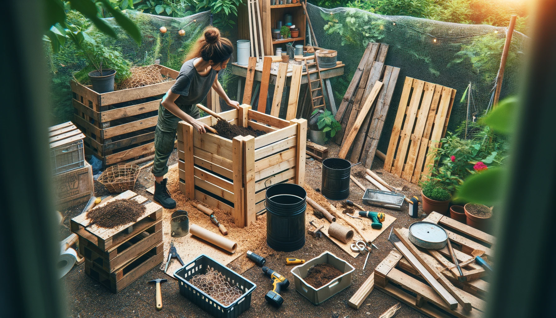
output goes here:
[[[180, 121], [180, 190], [187, 198], [228, 211], [238, 227], [245, 227], [265, 211], [265, 183], [267, 187], [281, 182], [304, 184], [307, 120], [279, 119], [245, 104], [220, 115], [230, 124], [251, 126], [267, 134], [229, 140], [212, 133], [198, 134]], [[212, 116], [199, 120], [210, 126], [217, 122]]]

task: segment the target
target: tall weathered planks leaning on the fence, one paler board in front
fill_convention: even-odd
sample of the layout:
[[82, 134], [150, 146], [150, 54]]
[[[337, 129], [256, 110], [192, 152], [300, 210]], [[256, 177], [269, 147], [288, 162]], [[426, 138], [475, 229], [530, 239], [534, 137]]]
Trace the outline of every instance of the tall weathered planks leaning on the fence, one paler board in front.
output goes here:
[[384, 65], [387, 52], [384, 43], [368, 44], [335, 116], [342, 126], [334, 139], [342, 145], [340, 158], [349, 156], [351, 162], [363, 162], [367, 168], [373, 163], [400, 72]]

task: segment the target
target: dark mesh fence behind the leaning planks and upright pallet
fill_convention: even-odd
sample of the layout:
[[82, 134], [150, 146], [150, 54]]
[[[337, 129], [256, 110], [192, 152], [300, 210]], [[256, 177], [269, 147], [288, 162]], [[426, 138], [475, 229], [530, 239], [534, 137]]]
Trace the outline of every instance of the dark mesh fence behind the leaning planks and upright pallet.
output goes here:
[[[492, 107], [505, 28], [381, 16], [355, 8], [324, 9], [309, 3], [307, 12], [319, 46], [337, 50], [338, 60], [345, 64], [344, 76], [331, 79], [336, 105], [344, 96], [367, 43], [389, 45], [385, 64], [400, 67], [400, 75], [380, 138], [380, 151], [386, 153], [388, 150], [406, 76], [457, 90], [449, 131], [456, 130], [466, 119], [476, 121]], [[514, 32], [500, 100], [517, 93], [527, 44], [527, 36]], [[468, 99], [461, 101], [461, 97], [469, 84], [471, 98], [468, 110]]]

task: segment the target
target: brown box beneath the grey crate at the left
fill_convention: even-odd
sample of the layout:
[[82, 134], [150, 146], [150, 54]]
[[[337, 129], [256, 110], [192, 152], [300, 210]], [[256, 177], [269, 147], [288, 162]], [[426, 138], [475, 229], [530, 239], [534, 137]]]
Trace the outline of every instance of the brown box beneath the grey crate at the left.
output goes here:
[[95, 193], [93, 169], [87, 162], [85, 162], [85, 167], [54, 175], [53, 179], [58, 195], [57, 209], [87, 202]]

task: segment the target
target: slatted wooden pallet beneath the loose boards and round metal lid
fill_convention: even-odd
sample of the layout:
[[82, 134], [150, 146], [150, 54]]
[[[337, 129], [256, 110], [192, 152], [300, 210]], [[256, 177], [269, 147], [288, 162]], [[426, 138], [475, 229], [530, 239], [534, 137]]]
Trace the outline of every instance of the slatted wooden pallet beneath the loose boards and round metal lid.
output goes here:
[[[423, 221], [437, 223], [446, 229], [450, 241], [455, 248], [454, 253], [460, 262], [472, 258], [470, 254], [473, 249], [485, 251], [485, 255], [489, 258], [490, 255], [492, 255], [492, 244], [495, 242], [495, 238], [490, 234], [481, 232], [436, 212], [429, 214]], [[451, 258], [449, 257], [447, 247], [440, 249], [438, 254], [434, 257], [429, 255], [429, 253], [421, 253], [421, 257], [429, 264], [439, 269], [451, 266]], [[458, 293], [460, 293], [460, 295], [463, 295], [471, 302], [473, 309], [469, 312], [465, 312], [461, 306], [453, 310], [449, 309], [446, 302], [444, 302], [438, 293], [424, 281], [419, 272], [411, 266], [411, 263], [395, 250], [391, 251], [375, 268], [375, 287], [398, 298], [408, 306], [423, 312], [423, 314], [429, 317], [483, 317], [486, 307], [484, 299], [487, 297], [489, 291], [489, 283], [482, 280], [481, 277], [486, 273], [484, 269], [476, 263], [470, 263], [464, 266], [462, 270], [464, 271], [464, 275], [476, 272], [476, 277], [478, 278], [459, 282], [452, 272], [443, 270], [441, 273], [448, 278], [454, 286], [459, 288]]]

